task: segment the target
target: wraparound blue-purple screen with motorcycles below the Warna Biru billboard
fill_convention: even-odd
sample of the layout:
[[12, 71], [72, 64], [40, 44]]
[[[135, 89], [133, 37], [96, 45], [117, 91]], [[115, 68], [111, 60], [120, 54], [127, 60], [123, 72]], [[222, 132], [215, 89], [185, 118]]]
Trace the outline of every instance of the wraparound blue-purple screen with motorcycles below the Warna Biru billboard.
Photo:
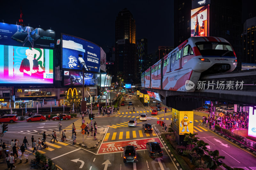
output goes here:
[[[64, 71], [64, 85], [83, 85], [83, 72]], [[84, 85], [100, 85], [100, 74], [84, 72]]]

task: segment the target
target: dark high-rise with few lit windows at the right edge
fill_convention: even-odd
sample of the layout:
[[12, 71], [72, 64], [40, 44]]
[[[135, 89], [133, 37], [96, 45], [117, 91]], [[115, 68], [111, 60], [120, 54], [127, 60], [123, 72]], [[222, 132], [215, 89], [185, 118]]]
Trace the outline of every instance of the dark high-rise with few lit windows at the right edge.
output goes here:
[[256, 64], [256, 48], [255, 48], [255, 26], [256, 17], [249, 18], [244, 22], [244, 32], [242, 38], [242, 63]]

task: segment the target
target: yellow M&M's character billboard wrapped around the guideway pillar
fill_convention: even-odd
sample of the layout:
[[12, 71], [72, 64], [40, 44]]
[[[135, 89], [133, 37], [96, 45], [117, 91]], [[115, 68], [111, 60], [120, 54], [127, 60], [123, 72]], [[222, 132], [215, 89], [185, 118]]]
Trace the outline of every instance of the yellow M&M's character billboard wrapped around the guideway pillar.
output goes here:
[[194, 133], [193, 111], [179, 111], [172, 108], [172, 129], [179, 135]]

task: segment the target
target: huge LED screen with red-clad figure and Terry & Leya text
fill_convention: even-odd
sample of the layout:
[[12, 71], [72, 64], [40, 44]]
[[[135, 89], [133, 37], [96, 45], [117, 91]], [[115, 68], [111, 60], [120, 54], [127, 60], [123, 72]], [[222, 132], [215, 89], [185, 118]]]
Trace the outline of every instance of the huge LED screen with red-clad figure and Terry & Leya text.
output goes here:
[[0, 45], [0, 83], [53, 83], [53, 50]]

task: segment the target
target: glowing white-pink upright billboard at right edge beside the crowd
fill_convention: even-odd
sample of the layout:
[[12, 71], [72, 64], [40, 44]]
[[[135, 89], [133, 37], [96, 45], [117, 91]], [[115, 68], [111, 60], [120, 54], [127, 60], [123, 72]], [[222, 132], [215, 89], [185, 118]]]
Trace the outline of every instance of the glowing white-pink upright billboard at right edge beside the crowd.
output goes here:
[[256, 137], [256, 107], [249, 107], [248, 136]]

